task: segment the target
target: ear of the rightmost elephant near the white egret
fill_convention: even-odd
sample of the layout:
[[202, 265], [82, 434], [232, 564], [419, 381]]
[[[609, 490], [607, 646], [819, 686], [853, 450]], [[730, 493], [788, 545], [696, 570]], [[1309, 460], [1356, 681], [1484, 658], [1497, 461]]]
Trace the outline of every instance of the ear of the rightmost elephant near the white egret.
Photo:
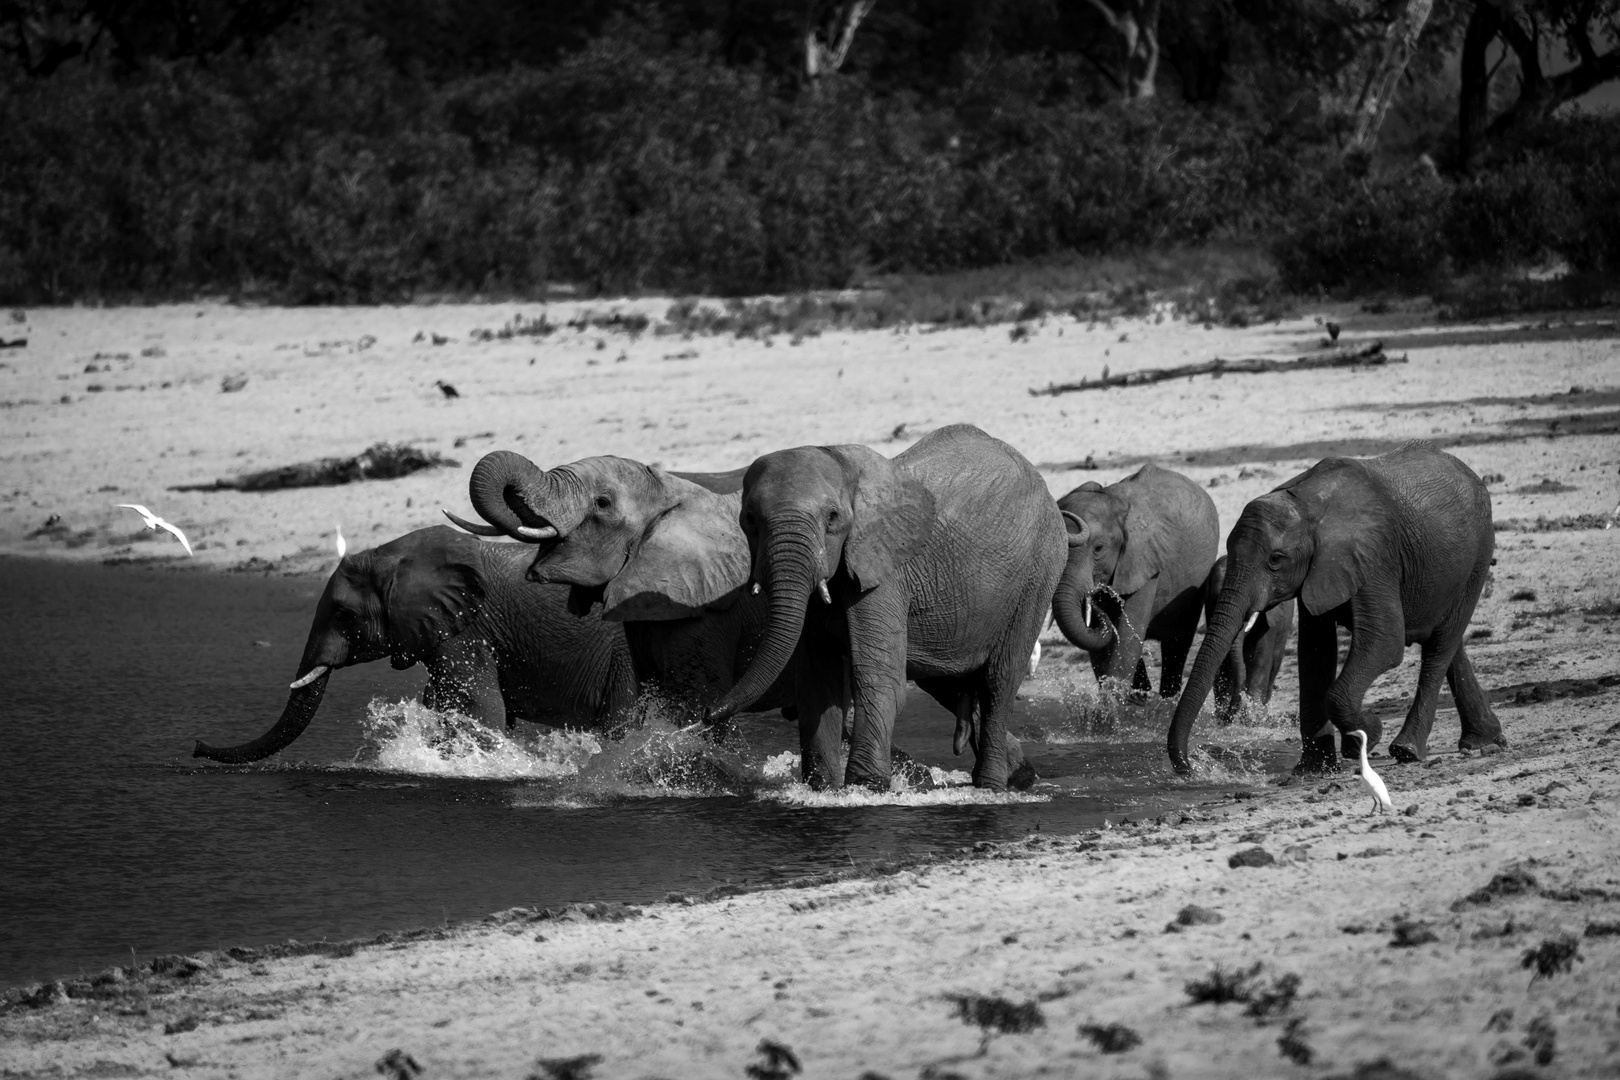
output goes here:
[[1315, 551], [1299, 586], [1299, 601], [1312, 615], [1348, 601], [1380, 563], [1396, 557], [1385, 500], [1372, 489], [1372, 478], [1358, 463], [1340, 461], [1336, 468], [1322, 470], [1328, 461], [1320, 461], [1311, 470], [1330, 473], [1324, 486], [1290, 489], [1314, 525]]

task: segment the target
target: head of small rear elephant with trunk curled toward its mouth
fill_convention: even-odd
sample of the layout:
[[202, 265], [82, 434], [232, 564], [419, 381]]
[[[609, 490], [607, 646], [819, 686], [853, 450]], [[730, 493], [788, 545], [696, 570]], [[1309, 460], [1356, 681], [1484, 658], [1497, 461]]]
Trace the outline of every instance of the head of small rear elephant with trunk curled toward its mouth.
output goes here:
[[1051, 614], [1071, 643], [1097, 653], [1116, 635], [1108, 614], [1092, 604], [1092, 591], [1106, 585], [1131, 596], [1147, 585], [1158, 565], [1168, 518], [1132, 510], [1129, 500], [1087, 481], [1058, 500], [1069, 533], [1069, 560], [1051, 596]]

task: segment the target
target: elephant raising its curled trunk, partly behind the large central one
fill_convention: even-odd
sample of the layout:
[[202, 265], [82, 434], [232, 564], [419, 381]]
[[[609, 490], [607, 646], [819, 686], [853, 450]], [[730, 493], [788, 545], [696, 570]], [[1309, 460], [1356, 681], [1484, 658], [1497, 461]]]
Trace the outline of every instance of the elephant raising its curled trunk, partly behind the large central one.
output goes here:
[[[565, 588], [569, 609], [622, 623], [635, 680], [690, 719], [748, 667], [765, 601], [747, 593], [748, 542], [737, 526], [742, 470], [666, 473], [619, 457], [541, 470], [510, 450], [484, 455], [468, 495], [489, 525], [468, 531], [531, 544], [528, 580]], [[792, 711], [789, 678], [742, 704]]]

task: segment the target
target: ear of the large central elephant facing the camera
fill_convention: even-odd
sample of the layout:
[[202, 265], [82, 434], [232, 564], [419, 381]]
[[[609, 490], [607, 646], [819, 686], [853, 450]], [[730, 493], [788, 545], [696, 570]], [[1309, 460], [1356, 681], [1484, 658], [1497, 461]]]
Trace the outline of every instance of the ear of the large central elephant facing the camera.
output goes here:
[[855, 479], [844, 562], [862, 589], [894, 578], [933, 534], [933, 492], [876, 450], [829, 447]]

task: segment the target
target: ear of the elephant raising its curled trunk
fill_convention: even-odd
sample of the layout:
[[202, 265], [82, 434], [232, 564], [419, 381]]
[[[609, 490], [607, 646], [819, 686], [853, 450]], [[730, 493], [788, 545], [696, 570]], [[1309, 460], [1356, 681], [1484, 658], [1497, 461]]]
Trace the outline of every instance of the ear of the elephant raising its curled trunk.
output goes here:
[[739, 497], [664, 476], [680, 500], [658, 515], [603, 593], [603, 619], [687, 619], [748, 583], [748, 538], [737, 525]]

